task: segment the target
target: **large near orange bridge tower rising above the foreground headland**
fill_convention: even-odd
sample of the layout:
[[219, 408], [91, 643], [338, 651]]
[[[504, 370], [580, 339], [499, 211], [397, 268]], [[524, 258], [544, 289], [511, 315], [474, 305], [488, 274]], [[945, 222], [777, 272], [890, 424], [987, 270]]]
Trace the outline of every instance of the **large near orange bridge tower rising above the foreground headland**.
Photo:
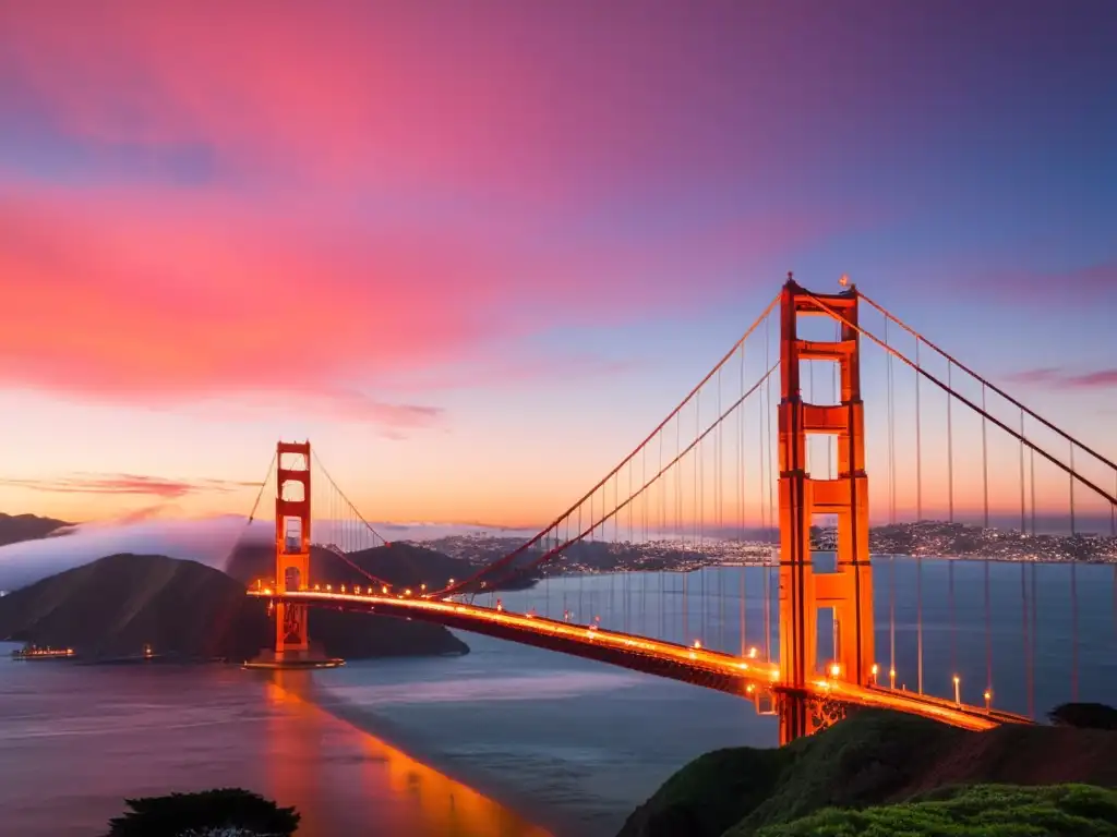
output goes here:
[[[821, 305], [820, 305], [821, 302]], [[800, 315], [843, 317], [837, 341], [800, 339]], [[858, 292], [812, 294], [789, 275], [781, 299], [780, 401], [780, 667], [790, 691], [780, 701], [780, 740], [808, 735], [824, 723], [805, 699], [818, 673], [818, 617], [832, 608], [834, 658], [823, 676], [867, 685], [873, 672], [872, 570], [869, 565], [869, 490], [865, 473], [865, 405], [861, 402]], [[808, 404], [800, 389], [801, 360], [838, 364], [838, 404]], [[838, 475], [814, 479], [806, 439], [837, 437]], [[811, 554], [814, 514], [838, 520], [833, 573], [819, 573]]]

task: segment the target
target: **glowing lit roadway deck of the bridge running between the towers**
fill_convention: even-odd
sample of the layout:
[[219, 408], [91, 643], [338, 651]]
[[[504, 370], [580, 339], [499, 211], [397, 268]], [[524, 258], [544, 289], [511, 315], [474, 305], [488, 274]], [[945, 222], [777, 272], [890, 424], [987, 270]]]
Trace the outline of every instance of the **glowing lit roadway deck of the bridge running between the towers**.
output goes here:
[[[765, 692], [779, 694], [791, 691], [781, 685], [779, 666], [767, 661], [575, 625], [533, 614], [516, 614], [446, 599], [375, 593], [326, 590], [278, 593], [269, 588], [256, 588], [249, 589], [248, 595], [313, 607], [432, 622], [446, 627], [598, 660], [741, 696], [757, 698]], [[986, 710], [984, 706], [955, 704], [953, 701], [903, 690], [859, 686], [821, 675], [808, 686], [806, 696], [859, 706], [897, 710], [967, 730], [989, 730], [1002, 723], [1031, 723], [1030, 719], [1023, 715]]]

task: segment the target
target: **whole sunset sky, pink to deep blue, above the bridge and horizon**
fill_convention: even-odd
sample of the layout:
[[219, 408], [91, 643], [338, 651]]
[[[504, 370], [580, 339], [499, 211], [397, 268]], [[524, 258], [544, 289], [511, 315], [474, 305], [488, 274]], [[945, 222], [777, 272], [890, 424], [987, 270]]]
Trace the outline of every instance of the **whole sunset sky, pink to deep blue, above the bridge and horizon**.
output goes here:
[[309, 439], [370, 519], [545, 522], [790, 270], [1115, 458], [1114, 42], [1108, 0], [0, 0], [0, 510], [245, 514]]

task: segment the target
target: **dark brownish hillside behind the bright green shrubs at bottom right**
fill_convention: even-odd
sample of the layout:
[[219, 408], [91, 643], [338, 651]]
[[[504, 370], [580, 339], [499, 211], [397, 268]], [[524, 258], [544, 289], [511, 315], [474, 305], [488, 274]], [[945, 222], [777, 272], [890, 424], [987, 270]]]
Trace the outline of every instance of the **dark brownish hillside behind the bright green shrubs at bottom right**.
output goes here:
[[862, 711], [779, 749], [734, 748], [699, 757], [637, 808], [619, 837], [862, 834], [863, 822], [852, 830], [809, 831], [798, 820], [830, 808], [942, 801], [961, 792], [943, 790], [956, 786], [1088, 782], [1111, 788], [1117, 786], [1115, 748], [1117, 732], [1104, 730], [1006, 725], [970, 732]]

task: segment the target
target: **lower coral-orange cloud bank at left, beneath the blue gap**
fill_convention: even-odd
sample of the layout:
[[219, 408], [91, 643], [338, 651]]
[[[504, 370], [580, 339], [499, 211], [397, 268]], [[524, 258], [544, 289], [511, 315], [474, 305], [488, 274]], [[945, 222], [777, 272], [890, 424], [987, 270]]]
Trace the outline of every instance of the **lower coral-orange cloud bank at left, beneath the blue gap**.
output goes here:
[[437, 410], [363, 400], [343, 382], [484, 362], [486, 347], [563, 321], [701, 306], [708, 295], [667, 275], [698, 259], [714, 290], [744, 249], [771, 252], [812, 229], [703, 230], [659, 253], [533, 251], [467, 220], [334, 227], [223, 194], [166, 205], [149, 190], [9, 192], [0, 225], [0, 381], [143, 403], [315, 393], [304, 406], [393, 426]]

